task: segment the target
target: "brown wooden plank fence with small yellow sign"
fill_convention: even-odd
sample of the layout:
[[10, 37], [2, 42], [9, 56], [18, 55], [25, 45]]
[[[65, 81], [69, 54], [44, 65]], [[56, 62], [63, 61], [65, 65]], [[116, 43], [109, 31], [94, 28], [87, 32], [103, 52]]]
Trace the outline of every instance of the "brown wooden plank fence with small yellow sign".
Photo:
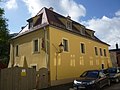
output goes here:
[[[38, 78], [36, 78], [36, 75]], [[0, 90], [33, 90], [48, 87], [47, 69], [6, 68], [0, 71]], [[36, 82], [37, 81], [37, 82]]]

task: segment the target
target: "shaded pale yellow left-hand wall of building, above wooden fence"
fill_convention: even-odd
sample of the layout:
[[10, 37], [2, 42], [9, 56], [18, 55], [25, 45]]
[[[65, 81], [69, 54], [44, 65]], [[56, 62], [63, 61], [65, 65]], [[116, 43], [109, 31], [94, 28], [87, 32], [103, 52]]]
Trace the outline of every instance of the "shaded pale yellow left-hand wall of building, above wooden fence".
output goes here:
[[[11, 56], [10, 64], [13, 61], [13, 49], [14, 49], [14, 65], [23, 66], [23, 60], [26, 58], [29, 67], [37, 65], [37, 70], [46, 67], [45, 51], [42, 50], [42, 38], [44, 37], [44, 30], [36, 30], [32, 33], [20, 36], [13, 39], [11, 43]], [[39, 53], [33, 53], [33, 40], [39, 39]], [[14, 45], [14, 48], [12, 48]], [[16, 56], [15, 46], [18, 45], [18, 56]]]

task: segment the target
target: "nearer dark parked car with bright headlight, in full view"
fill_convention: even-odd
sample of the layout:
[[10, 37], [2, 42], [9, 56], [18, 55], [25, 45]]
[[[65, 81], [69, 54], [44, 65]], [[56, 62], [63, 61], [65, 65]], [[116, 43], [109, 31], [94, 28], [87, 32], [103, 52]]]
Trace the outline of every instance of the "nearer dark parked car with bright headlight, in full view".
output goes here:
[[105, 85], [110, 86], [110, 80], [102, 70], [88, 70], [74, 80], [73, 88], [99, 90]]

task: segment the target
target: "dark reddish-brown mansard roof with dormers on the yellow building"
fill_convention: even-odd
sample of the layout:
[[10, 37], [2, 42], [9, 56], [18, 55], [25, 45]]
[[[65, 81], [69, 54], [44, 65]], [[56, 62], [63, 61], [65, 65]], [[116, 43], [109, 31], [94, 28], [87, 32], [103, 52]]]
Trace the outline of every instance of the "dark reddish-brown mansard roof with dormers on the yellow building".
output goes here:
[[[34, 18], [36, 18], [36, 19], [34, 20]], [[27, 20], [28, 23], [33, 22], [33, 21], [34, 21], [34, 24], [33, 24], [32, 29], [30, 29], [30, 28], [28, 28], [28, 30], [23, 29], [23, 30], [21, 30], [22, 33], [19, 33], [18, 36], [21, 36], [26, 33], [34, 31], [36, 29], [36, 26], [37, 27], [40, 26], [39, 28], [42, 28], [46, 25], [50, 25], [50, 26], [54, 26], [56, 28], [61, 28], [67, 32], [77, 34], [77, 35], [83, 36], [85, 38], [89, 38], [89, 39], [95, 40], [97, 42], [106, 44], [105, 42], [101, 41], [94, 35], [95, 31], [85, 28], [84, 25], [72, 20], [70, 18], [70, 16], [65, 17], [65, 16], [58, 14], [58, 13], [54, 12], [53, 10], [45, 8], [45, 7], [42, 8], [36, 16]], [[72, 23], [71, 30], [66, 28], [67, 21], [70, 21]], [[29, 26], [27, 26], [27, 27], [29, 27]], [[25, 33], [24, 33], [24, 31], [25, 31]], [[18, 36], [16, 36], [16, 37], [18, 37]], [[108, 45], [108, 44], [106, 44], [106, 45]]]

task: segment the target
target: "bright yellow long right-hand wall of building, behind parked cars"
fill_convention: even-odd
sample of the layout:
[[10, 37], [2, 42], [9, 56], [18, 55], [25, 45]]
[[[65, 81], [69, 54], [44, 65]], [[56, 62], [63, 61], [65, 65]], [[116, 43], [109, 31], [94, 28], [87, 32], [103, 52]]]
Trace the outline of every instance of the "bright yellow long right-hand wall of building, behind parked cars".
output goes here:
[[[107, 45], [54, 27], [49, 27], [49, 33], [51, 80], [56, 79], [56, 48], [63, 38], [68, 39], [69, 52], [63, 52], [57, 57], [57, 79], [79, 77], [87, 69], [101, 69], [103, 62], [107, 68], [107, 61], [110, 59]], [[80, 43], [85, 44], [85, 54], [80, 52]], [[95, 55], [94, 47], [98, 48], [98, 56]], [[107, 57], [100, 56], [99, 48], [102, 51], [106, 49]]]

